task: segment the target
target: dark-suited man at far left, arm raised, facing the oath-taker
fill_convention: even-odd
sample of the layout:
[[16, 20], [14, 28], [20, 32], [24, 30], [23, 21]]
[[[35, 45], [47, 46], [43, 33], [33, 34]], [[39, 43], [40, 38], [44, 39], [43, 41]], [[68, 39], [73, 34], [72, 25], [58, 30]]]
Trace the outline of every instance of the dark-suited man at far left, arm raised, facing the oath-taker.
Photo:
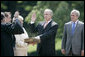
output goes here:
[[10, 21], [11, 15], [9, 13], [1, 13], [1, 56], [14, 56], [13, 35], [23, 33], [18, 19], [13, 23], [10, 23]]

